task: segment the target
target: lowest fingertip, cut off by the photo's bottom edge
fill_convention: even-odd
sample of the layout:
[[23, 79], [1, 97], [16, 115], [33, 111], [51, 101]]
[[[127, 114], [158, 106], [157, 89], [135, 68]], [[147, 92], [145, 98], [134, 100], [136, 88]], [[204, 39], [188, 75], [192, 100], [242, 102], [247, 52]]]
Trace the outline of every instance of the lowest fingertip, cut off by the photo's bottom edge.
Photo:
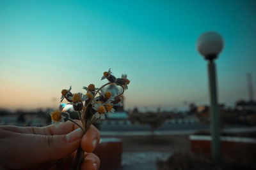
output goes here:
[[97, 170], [100, 167], [100, 159], [94, 153], [85, 153], [84, 162], [82, 163], [81, 170]]

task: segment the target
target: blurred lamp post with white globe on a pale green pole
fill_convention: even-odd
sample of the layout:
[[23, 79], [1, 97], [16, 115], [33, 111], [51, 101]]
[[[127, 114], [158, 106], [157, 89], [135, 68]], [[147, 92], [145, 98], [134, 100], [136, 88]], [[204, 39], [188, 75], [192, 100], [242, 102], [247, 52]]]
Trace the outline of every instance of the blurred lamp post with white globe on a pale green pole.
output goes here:
[[211, 113], [211, 136], [212, 136], [212, 158], [216, 162], [221, 159], [220, 143], [220, 110], [218, 106], [216, 66], [214, 60], [223, 48], [223, 38], [216, 32], [205, 32], [197, 42], [198, 52], [208, 61], [209, 94], [210, 94], [210, 113]]

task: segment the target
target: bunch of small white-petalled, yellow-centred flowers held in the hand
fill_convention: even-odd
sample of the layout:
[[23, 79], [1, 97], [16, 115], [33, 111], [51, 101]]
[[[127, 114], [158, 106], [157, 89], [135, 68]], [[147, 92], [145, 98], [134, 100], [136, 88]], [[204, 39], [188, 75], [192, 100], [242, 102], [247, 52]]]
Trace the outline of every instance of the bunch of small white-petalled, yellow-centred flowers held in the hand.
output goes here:
[[[99, 119], [104, 119], [106, 113], [113, 113], [115, 111], [113, 106], [116, 104], [122, 106], [124, 91], [128, 89], [127, 85], [130, 83], [130, 80], [127, 79], [127, 74], [122, 74], [121, 78], [115, 78], [109, 69], [109, 71], [103, 73], [101, 80], [104, 79], [107, 79], [109, 82], [102, 85], [99, 89], [95, 88], [93, 84], [88, 85], [88, 87], [83, 87], [83, 89], [86, 90], [85, 94], [72, 93], [71, 86], [70, 89], [63, 89], [61, 91], [62, 96], [60, 102], [62, 103], [63, 99], [66, 99], [68, 101], [67, 104], [72, 105], [82, 122], [82, 126], [70, 118], [70, 114], [63, 110], [62, 104], [59, 110], [52, 111], [52, 124], [58, 127], [60, 122], [71, 121], [78, 125], [85, 134], [90, 125], [97, 122]], [[121, 94], [114, 96], [111, 92], [102, 90], [107, 85], [118, 85], [122, 87], [123, 91]], [[84, 152], [80, 147], [77, 149], [71, 169], [80, 169], [83, 160]]]

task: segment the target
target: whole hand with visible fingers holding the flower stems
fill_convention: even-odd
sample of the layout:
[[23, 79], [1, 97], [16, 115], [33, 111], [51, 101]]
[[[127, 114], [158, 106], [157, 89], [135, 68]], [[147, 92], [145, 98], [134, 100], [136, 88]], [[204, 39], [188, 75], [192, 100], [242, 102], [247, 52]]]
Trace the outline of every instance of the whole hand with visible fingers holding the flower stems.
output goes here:
[[58, 128], [0, 126], [0, 169], [69, 169], [80, 145], [85, 153], [81, 169], [99, 169], [99, 157], [92, 153], [99, 140], [96, 127], [83, 135], [72, 122]]

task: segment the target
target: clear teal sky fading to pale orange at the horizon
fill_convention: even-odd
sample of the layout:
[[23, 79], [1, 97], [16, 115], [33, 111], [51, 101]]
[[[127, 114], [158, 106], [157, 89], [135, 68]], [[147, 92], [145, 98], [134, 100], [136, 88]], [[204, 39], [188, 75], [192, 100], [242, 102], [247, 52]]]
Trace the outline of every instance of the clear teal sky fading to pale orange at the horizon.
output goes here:
[[[220, 103], [256, 91], [255, 1], [0, 1], [0, 108], [58, 105], [102, 73], [128, 75], [125, 108], [209, 104], [206, 31], [223, 36], [216, 60]], [[56, 101], [57, 100], [57, 101]], [[185, 103], [186, 102], [186, 103]]]

